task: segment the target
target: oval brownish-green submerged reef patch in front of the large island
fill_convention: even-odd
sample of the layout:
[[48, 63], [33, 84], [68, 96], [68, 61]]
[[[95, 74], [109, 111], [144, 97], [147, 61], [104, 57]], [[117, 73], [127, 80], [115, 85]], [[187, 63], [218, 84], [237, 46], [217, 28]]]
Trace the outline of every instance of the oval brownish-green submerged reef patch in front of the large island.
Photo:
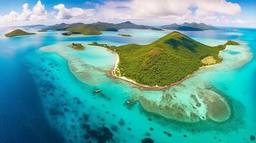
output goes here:
[[207, 119], [224, 122], [231, 116], [226, 99], [211, 90], [198, 89], [196, 94], [180, 95], [182, 98], [176, 96], [163, 94], [160, 101], [140, 96], [138, 101], [147, 112], [179, 122], [199, 122]]

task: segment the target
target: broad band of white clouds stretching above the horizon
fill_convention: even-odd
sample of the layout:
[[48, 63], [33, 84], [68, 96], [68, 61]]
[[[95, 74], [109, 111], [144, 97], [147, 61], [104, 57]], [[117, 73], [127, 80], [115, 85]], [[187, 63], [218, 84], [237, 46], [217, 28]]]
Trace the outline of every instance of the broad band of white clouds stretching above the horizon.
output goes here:
[[41, 1], [37, 1], [37, 4], [31, 9], [29, 9], [29, 4], [24, 4], [21, 13], [11, 11], [5, 16], [0, 16], [0, 24], [7, 26], [9, 24], [36, 24], [37, 21], [44, 19], [40, 22], [44, 24], [55, 24], [60, 21], [67, 23], [95, 21], [118, 23], [131, 20], [138, 24], [163, 25], [196, 21], [227, 25], [249, 24], [252, 21], [245, 22], [248, 19], [242, 21], [240, 20], [242, 17], [234, 17], [234, 15], [240, 14], [241, 7], [239, 4], [227, 0], [110, 0], [103, 4], [93, 2], [83, 4], [93, 8], [82, 9], [57, 4], [52, 11], [47, 13]]

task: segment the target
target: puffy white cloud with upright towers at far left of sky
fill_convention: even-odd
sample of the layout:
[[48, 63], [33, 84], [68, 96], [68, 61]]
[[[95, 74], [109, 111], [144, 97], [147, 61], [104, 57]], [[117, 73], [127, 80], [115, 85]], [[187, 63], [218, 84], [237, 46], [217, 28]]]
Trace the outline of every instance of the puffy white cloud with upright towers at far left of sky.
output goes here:
[[23, 4], [23, 11], [21, 14], [16, 11], [11, 11], [9, 14], [4, 15], [5, 21], [40, 21], [47, 18], [47, 11], [44, 9], [41, 1], [31, 10], [29, 4]]

